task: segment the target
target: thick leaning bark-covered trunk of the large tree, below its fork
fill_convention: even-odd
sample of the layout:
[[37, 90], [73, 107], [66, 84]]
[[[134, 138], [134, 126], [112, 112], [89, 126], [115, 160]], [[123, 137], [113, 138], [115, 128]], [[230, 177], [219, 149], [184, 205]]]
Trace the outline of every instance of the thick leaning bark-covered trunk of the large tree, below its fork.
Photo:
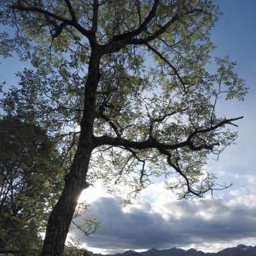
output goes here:
[[81, 134], [76, 154], [65, 177], [65, 186], [57, 204], [52, 209], [41, 256], [62, 256], [68, 228], [76, 210], [77, 200], [83, 189], [88, 187], [86, 175], [93, 150], [93, 122], [95, 102], [99, 83], [101, 52], [94, 48], [88, 66], [88, 78], [84, 88], [84, 112], [81, 120]]

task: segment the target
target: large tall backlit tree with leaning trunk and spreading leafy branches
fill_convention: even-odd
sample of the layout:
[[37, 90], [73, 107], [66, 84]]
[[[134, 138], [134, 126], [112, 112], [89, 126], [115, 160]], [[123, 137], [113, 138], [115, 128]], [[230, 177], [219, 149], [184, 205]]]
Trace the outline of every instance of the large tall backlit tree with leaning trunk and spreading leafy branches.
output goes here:
[[1, 22], [16, 28], [1, 34], [1, 53], [33, 65], [1, 106], [36, 118], [70, 159], [41, 255], [62, 255], [77, 199], [96, 179], [129, 196], [159, 176], [177, 175], [166, 188], [180, 198], [226, 187], [203, 167], [234, 141], [224, 128], [242, 116], [220, 117], [216, 104], [243, 100], [247, 88], [228, 58], [216, 59], [216, 74], [205, 69], [219, 15], [212, 1], [1, 2]]

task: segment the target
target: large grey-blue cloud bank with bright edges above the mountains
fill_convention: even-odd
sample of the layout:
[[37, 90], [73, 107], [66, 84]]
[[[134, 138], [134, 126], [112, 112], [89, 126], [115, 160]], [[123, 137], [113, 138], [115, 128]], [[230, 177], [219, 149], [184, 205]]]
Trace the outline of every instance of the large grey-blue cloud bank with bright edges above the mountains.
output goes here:
[[101, 197], [93, 202], [89, 215], [102, 221], [102, 229], [91, 237], [81, 237], [74, 230], [73, 236], [88, 247], [115, 252], [188, 248], [191, 244], [201, 249], [207, 244], [208, 251], [208, 244], [212, 244], [214, 250], [220, 243], [256, 237], [256, 208], [240, 201], [235, 204], [234, 200], [170, 200], [158, 208], [140, 200], [141, 204], [123, 209], [118, 198]]

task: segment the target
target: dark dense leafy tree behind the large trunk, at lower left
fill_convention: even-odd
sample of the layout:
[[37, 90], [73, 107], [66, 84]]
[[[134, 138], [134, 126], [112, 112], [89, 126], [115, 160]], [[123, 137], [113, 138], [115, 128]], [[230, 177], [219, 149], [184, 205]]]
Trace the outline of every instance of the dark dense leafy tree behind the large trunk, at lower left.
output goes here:
[[38, 255], [49, 217], [63, 186], [60, 154], [38, 126], [0, 120], [0, 248]]

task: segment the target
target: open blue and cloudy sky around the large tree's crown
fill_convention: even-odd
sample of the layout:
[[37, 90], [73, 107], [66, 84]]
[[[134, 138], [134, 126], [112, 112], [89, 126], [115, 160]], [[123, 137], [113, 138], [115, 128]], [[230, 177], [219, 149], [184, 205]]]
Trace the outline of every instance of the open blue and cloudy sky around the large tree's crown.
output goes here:
[[[209, 159], [208, 172], [218, 182], [233, 182], [232, 188], [214, 193], [214, 199], [177, 200], [166, 191], [163, 181], [145, 189], [132, 205], [122, 207], [121, 197], [108, 195], [99, 184], [86, 189], [80, 200], [92, 207], [87, 217], [102, 221], [102, 228], [90, 237], [72, 230], [71, 236], [92, 252], [116, 253], [150, 248], [195, 248], [218, 252], [237, 244], [256, 246], [256, 20], [255, 0], [215, 0], [223, 15], [212, 30], [218, 47], [212, 56], [230, 56], [237, 61], [236, 72], [250, 88], [244, 102], [221, 102], [218, 112], [227, 118], [243, 115], [236, 124], [239, 138], [221, 154]], [[9, 62], [8, 62], [9, 61]], [[1, 60], [0, 76], [14, 83], [13, 72], [24, 63]]]

